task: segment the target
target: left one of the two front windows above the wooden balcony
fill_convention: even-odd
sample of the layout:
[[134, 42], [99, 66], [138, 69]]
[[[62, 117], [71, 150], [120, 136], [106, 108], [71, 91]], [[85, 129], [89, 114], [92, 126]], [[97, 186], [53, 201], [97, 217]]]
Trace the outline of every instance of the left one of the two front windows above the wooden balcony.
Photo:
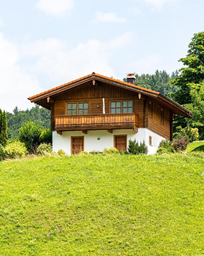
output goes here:
[[67, 103], [67, 115], [87, 115], [88, 102]]

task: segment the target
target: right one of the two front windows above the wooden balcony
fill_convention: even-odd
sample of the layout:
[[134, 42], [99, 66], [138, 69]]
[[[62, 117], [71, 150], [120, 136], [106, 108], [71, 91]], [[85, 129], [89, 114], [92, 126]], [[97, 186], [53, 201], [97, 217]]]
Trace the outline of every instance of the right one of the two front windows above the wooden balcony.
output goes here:
[[[121, 111], [122, 110], [122, 111]], [[121, 100], [110, 102], [110, 113], [132, 113], [133, 112], [133, 101], [132, 100]]]

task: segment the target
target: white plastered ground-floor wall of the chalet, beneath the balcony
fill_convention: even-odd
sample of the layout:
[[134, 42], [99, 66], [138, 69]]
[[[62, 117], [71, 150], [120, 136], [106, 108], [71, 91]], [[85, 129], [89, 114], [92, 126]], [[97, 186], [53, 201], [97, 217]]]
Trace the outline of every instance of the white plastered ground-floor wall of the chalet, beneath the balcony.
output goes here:
[[[57, 152], [59, 149], [62, 149], [67, 155], [70, 155], [71, 136], [84, 136], [84, 151], [98, 150], [102, 152], [104, 148], [114, 146], [114, 134], [127, 134], [127, 144], [129, 139], [136, 139], [138, 142], [145, 140], [149, 149], [148, 154], [154, 154], [159, 142], [164, 139], [147, 128], [139, 128], [137, 133], [132, 129], [113, 130], [113, 133], [109, 133], [107, 130], [93, 130], [87, 131], [87, 134], [83, 134], [82, 131], [63, 131], [62, 135], [53, 131], [53, 151]], [[152, 136], [152, 146], [149, 145], [149, 136]]]

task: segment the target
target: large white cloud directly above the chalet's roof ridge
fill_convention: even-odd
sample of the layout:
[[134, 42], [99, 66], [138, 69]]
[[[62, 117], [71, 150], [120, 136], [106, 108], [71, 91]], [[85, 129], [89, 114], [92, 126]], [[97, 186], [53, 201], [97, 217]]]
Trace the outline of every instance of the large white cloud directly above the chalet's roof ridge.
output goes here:
[[[128, 40], [127, 40], [128, 38]], [[46, 89], [57, 86], [92, 72], [114, 76], [111, 60], [118, 49], [132, 43], [132, 34], [125, 33], [115, 39], [100, 42], [92, 39], [68, 49], [67, 43], [49, 38], [23, 45], [25, 57], [37, 61], [29, 70], [37, 76], [44, 76]], [[36, 91], [36, 93], [39, 93]]]

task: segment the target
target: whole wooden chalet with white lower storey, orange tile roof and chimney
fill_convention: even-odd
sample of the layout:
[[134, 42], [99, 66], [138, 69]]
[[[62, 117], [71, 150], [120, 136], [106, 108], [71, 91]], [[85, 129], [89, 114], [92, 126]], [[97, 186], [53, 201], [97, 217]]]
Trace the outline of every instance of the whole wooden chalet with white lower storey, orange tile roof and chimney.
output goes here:
[[129, 139], [145, 140], [149, 154], [159, 142], [172, 140], [175, 114], [192, 113], [163, 94], [92, 73], [29, 98], [51, 110], [53, 151], [66, 154], [115, 147], [125, 150]]

